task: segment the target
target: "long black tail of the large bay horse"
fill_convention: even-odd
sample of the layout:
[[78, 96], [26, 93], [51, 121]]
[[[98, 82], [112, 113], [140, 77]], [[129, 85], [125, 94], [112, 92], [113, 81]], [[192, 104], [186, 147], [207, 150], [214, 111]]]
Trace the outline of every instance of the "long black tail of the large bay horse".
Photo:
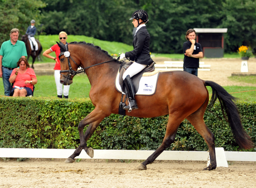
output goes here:
[[204, 85], [210, 86], [212, 88], [212, 98], [209, 104], [211, 107], [215, 101], [219, 99], [222, 113], [224, 116], [224, 111], [227, 114], [228, 123], [230, 124], [233, 136], [237, 144], [244, 149], [253, 148], [253, 142], [251, 141], [250, 136], [243, 129], [237, 106], [233, 102], [236, 100], [236, 98], [230, 95], [224, 88], [222, 88], [222, 86], [213, 81], [205, 81]]

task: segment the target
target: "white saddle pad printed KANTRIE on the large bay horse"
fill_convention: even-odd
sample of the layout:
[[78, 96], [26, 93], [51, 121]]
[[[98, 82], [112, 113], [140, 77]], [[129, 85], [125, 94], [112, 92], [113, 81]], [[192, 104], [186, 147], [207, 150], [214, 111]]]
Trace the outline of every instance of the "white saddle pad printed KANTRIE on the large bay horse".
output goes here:
[[[115, 86], [116, 86], [117, 91], [119, 91], [120, 93], [123, 93], [122, 88], [119, 84], [119, 75], [120, 75], [120, 73], [118, 71], [118, 73], [116, 75]], [[155, 73], [154, 75], [150, 75], [150, 76], [149, 76], [149, 73], [144, 73], [140, 79], [139, 89], [138, 89], [137, 93], [135, 93], [135, 95], [153, 95], [156, 90], [158, 75], [159, 75], [159, 72]], [[125, 93], [123, 93], [123, 94], [125, 94]]]

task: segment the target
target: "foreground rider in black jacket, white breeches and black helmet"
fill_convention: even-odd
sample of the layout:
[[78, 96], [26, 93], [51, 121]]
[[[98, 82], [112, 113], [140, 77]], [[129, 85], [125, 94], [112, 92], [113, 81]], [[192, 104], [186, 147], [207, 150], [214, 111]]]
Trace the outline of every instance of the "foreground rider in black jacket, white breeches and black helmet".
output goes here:
[[125, 106], [124, 109], [129, 110], [131, 108], [132, 110], [136, 110], [138, 109], [138, 106], [135, 100], [131, 77], [139, 73], [154, 61], [150, 57], [150, 35], [145, 25], [149, 22], [148, 13], [146, 13], [145, 10], [136, 10], [132, 14], [130, 20], [132, 20], [134, 27], [137, 28], [133, 38], [134, 50], [121, 54], [120, 60], [129, 58], [131, 61], [134, 61], [134, 63], [132, 63], [123, 74], [123, 80], [129, 97], [129, 105]]

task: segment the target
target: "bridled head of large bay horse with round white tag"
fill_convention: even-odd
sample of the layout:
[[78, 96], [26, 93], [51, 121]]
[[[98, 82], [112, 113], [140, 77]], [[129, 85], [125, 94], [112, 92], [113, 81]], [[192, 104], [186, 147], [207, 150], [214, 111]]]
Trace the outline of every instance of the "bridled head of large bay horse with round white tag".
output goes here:
[[[60, 82], [63, 85], [70, 85], [73, 83], [73, 77], [76, 75], [76, 71], [80, 66], [80, 62], [76, 58], [76, 55], [68, 50], [68, 43], [58, 43], [58, 46], [61, 50], [59, 54], [59, 60], [61, 61], [61, 77]], [[72, 57], [71, 57], [72, 56]]]

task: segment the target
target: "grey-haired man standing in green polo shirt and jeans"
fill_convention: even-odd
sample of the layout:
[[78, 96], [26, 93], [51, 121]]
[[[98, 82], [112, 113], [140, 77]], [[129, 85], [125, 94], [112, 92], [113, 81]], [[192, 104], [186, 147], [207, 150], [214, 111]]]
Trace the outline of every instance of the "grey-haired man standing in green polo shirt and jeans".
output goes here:
[[5, 41], [0, 49], [0, 78], [3, 78], [5, 96], [10, 94], [11, 84], [9, 78], [11, 72], [17, 67], [19, 59], [27, 56], [25, 43], [18, 40], [19, 34], [19, 29], [12, 29], [10, 31], [10, 40]]

